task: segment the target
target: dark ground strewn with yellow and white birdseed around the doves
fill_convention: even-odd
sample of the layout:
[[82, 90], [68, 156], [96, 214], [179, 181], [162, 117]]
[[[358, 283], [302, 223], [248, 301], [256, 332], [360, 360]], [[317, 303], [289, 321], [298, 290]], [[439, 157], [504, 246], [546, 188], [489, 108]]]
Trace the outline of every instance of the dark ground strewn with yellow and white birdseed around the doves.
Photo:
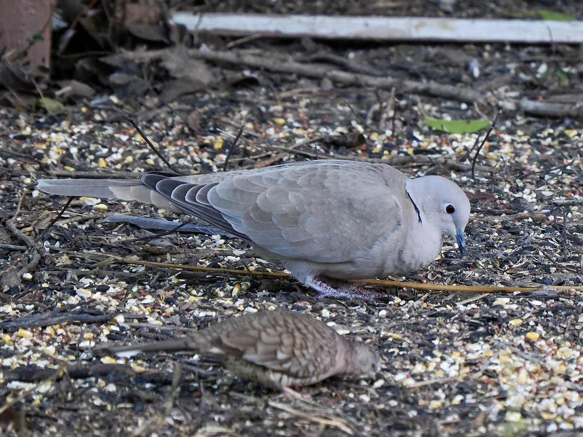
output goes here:
[[[213, 37], [207, 44], [219, 50], [230, 41]], [[252, 40], [233, 50], [459, 84], [496, 101], [568, 104], [583, 96], [578, 47]], [[478, 76], [467, 69], [472, 59]], [[504, 111], [476, 157], [476, 139], [487, 129], [438, 132], [424, 114], [493, 119], [492, 101], [473, 105], [194, 61], [213, 83], [170, 104], [152, 94], [101, 90], [57, 115], [0, 109], [3, 435], [583, 432], [581, 120]], [[143, 62], [152, 61], [136, 65]], [[152, 89], [166, 80], [147, 77]], [[472, 203], [468, 250], [460, 258], [448, 238], [440, 259], [398, 278], [445, 291], [377, 287], [387, 299], [363, 303], [319, 300], [296, 281], [271, 277], [278, 266], [238, 239], [156, 236], [104, 220], [187, 219], [148, 205], [73, 199], [43, 233], [67, 199], [36, 191], [39, 178], [168, 171], [120, 114], [131, 115], [187, 173], [222, 171], [227, 157], [228, 170], [335, 157], [386, 162], [411, 177], [451, 178]], [[456, 286], [535, 288], [490, 293]], [[276, 306], [370, 342], [384, 358], [380, 372], [328, 379], [304, 390], [309, 399], [294, 399], [238, 379], [209, 357], [99, 353], [103, 344], [171, 339]]]

